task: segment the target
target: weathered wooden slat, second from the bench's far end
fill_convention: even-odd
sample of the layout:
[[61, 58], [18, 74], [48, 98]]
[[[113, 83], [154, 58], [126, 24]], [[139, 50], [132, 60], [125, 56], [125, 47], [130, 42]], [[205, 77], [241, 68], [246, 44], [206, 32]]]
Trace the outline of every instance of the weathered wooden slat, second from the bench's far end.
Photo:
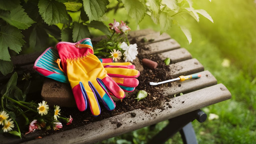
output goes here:
[[[135, 42], [136, 43], [141, 43], [142, 45], [146, 45], [146, 44], [149, 44], [149, 43], [163, 41], [163, 40], [167, 40], [167, 39], [170, 39], [170, 38], [171, 37], [166, 33], [163, 33], [160, 36], [160, 32], [154, 32], [154, 33], [147, 34], [145, 36], [136, 37]], [[142, 43], [142, 39], [146, 39], [147, 41]]]

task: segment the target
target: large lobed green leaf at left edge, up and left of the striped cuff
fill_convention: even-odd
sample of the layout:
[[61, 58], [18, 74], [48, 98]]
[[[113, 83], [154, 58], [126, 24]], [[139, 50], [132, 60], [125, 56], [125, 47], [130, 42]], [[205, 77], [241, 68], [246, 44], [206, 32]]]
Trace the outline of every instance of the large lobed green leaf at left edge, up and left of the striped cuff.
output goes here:
[[19, 53], [21, 51], [21, 47], [25, 43], [25, 41], [22, 39], [24, 36], [20, 33], [21, 31], [16, 27], [6, 25], [1, 26], [0, 28], [0, 59], [10, 61], [8, 47]]

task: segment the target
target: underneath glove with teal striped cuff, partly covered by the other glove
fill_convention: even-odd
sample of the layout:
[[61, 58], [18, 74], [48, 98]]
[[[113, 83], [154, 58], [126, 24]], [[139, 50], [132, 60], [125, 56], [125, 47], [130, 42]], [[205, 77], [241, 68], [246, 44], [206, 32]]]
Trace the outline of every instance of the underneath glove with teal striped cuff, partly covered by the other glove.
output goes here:
[[[49, 77], [59, 82], [69, 83], [68, 77], [59, 69], [58, 64], [55, 62], [57, 59], [59, 59], [57, 50], [49, 47], [37, 58], [33, 68], [45, 77]], [[135, 70], [135, 66], [130, 62], [118, 63], [114, 62], [111, 58], [99, 60], [102, 62], [107, 74], [123, 89], [123, 91], [132, 92], [135, 90], [135, 87], [138, 86], [139, 82], [135, 78], [138, 77], [140, 73]], [[118, 72], [117, 75], [114, 74], [115, 71]]]

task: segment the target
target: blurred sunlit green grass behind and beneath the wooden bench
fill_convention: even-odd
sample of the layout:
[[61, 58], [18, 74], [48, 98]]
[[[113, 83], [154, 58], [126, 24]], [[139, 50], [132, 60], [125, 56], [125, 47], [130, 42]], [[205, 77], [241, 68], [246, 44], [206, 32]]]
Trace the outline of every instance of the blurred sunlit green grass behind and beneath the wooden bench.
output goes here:
[[[189, 45], [185, 35], [178, 27], [172, 27], [167, 33], [197, 58], [232, 94], [230, 100], [220, 102], [203, 110], [209, 116], [217, 114], [219, 119], [206, 120], [204, 123], [193, 121], [198, 143], [255, 143], [256, 142], [256, 4], [253, 0], [194, 1], [196, 9], [205, 9], [213, 18], [214, 24], [200, 16], [197, 23], [193, 18], [179, 19], [187, 26], [193, 41]], [[109, 17], [117, 21], [129, 21], [132, 30], [136, 30], [134, 20], [127, 17], [124, 9]], [[113, 19], [106, 21], [112, 23]], [[151, 28], [159, 31], [145, 16], [140, 29]], [[228, 60], [230, 65], [223, 67]], [[154, 130], [145, 127], [102, 143], [145, 143], [160, 131], [168, 122], [158, 123]], [[176, 134], [166, 143], [182, 143]]]

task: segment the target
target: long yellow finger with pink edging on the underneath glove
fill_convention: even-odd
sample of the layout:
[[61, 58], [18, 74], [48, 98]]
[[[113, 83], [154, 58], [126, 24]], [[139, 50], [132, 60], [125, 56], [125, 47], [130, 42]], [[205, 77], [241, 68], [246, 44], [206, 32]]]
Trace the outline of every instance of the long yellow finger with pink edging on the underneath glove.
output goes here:
[[140, 72], [135, 69], [124, 68], [105, 68], [110, 77], [136, 78], [140, 76]]

